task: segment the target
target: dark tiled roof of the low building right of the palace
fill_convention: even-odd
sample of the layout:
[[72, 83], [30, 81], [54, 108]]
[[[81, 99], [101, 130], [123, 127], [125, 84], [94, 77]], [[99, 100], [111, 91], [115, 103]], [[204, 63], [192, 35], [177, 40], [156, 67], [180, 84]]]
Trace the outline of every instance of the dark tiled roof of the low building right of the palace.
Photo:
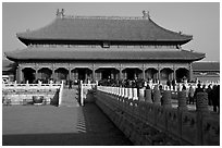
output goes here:
[[220, 71], [220, 62], [194, 62], [193, 71]]

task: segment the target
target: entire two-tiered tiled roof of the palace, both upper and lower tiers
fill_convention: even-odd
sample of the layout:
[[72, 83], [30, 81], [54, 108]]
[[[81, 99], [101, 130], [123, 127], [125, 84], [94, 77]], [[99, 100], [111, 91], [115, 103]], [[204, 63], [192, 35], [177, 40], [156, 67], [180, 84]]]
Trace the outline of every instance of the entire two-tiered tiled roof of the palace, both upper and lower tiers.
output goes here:
[[[188, 42], [193, 36], [165, 29], [149, 16], [64, 16], [58, 15], [49, 25], [17, 34], [28, 47], [24, 50], [7, 52], [8, 59], [20, 60], [185, 60], [197, 61], [203, 53], [175, 49]], [[109, 48], [102, 48], [108, 44]], [[51, 45], [53, 48], [32, 46]], [[60, 45], [60, 46], [55, 46]], [[92, 45], [96, 48], [62, 47], [61, 45]], [[132, 47], [146, 46], [144, 49]], [[100, 47], [101, 46], [101, 47]], [[114, 48], [120, 46], [120, 48]], [[131, 48], [125, 48], [128, 46]], [[150, 49], [157, 46], [156, 49]], [[173, 50], [159, 50], [158, 46], [174, 46]], [[161, 47], [162, 48], [162, 47]]]

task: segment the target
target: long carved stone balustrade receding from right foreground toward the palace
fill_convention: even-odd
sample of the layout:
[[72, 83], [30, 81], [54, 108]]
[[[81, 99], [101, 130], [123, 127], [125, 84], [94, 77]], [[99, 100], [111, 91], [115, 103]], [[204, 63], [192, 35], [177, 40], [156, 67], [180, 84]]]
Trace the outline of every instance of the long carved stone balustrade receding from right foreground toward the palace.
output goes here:
[[177, 94], [177, 108], [169, 90], [152, 96], [149, 89], [98, 86], [96, 102], [135, 145], [220, 145], [220, 115], [208, 110], [206, 92], [197, 94], [196, 111], [187, 109], [185, 91]]

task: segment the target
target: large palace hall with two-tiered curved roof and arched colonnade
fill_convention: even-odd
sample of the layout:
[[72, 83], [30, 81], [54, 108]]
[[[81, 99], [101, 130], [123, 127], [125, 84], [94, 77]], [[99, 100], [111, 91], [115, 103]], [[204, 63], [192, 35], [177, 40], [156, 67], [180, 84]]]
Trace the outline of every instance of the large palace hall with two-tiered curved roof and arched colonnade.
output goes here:
[[182, 48], [193, 39], [138, 17], [70, 16], [57, 11], [48, 25], [16, 34], [27, 46], [5, 52], [17, 64], [17, 83], [36, 79], [194, 79], [194, 61], [205, 58]]

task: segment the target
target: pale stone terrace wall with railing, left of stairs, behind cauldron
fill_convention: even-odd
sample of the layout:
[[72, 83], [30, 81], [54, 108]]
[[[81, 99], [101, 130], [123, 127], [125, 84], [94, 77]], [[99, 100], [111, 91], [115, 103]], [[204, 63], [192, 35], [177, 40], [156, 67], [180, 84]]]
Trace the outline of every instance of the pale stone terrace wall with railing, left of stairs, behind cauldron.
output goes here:
[[[2, 84], [3, 104], [27, 104], [35, 96], [45, 96], [47, 104], [60, 106], [63, 83], [61, 84]], [[57, 95], [58, 94], [58, 95]], [[8, 103], [9, 102], [9, 103]]]

